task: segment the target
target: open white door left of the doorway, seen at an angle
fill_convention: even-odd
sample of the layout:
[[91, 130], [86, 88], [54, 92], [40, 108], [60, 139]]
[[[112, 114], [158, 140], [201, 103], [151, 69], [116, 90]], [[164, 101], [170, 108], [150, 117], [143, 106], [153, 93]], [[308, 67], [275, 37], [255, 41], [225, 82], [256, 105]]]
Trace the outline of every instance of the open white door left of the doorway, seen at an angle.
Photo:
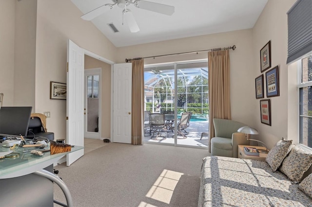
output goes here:
[[[67, 44], [67, 144], [84, 146], [83, 137], [83, 85], [84, 51], [70, 39]], [[67, 155], [69, 166], [84, 154], [78, 150]]]

